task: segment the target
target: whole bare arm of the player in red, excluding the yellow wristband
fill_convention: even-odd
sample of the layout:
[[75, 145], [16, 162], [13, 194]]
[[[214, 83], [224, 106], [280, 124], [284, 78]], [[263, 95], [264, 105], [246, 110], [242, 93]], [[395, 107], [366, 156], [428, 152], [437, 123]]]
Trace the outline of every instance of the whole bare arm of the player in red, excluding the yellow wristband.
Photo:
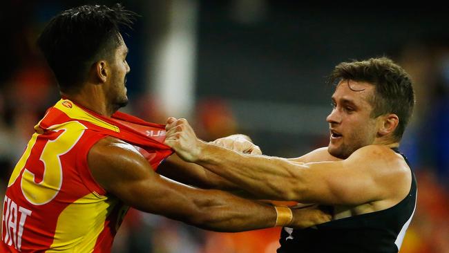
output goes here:
[[[225, 191], [195, 189], [166, 180], [131, 145], [115, 138], [97, 142], [88, 153], [88, 165], [95, 180], [108, 193], [144, 212], [215, 231], [238, 232], [272, 227], [276, 223], [276, 211], [271, 205]], [[294, 227], [330, 219], [319, 210], [293, 211]]]

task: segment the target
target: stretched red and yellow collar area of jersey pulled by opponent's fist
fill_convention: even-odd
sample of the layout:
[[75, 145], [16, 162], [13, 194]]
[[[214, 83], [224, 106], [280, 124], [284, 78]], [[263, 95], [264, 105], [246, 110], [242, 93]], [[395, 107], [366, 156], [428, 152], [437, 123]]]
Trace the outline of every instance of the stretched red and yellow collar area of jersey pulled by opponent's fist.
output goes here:
[[91, 131], [97, 131], [132, 144], [149, 161], [154, 170], [162, 160], [173, 153], [169, 146], [163, 144], [165, 140], [164, 124], [146, 122], [120, 111], [115, 112], [111, 118], [105, 117], [64, 97], [46, 111], [46, 115], [35, 126], [35, 130], [51, 131], [55, 122], [61, 122], [62, 118], [66, 119], [67, 117], [70, 119], [65, 120], [66, 124], [70, 124], [70, 121], [86, 123]]

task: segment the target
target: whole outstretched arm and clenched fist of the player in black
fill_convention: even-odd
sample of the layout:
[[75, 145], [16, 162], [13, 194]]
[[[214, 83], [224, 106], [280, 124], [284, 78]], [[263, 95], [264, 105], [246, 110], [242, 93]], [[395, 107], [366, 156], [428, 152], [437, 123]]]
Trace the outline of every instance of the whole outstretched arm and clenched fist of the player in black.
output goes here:
[[[360, 205], [403, 198], [410, 188], [405, 161], [382, 146], [367, 146], [346, 160], [296, 162], [249, 156], [198, 140], [186, 120], [170, 118], [165, 143], [195, 162], [267, 199], [325, 205]], [[393, 196], [392, 196], [393, 195]]]

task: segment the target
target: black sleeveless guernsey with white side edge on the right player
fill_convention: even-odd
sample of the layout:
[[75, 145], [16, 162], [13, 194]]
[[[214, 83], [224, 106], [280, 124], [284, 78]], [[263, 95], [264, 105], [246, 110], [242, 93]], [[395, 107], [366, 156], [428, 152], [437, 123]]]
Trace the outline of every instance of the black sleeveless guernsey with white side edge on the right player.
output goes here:
[[[393, 149], [400, 153], [398, 149]], [[400, 153], [407, 165], [410, 164]], [[417, 201], [417, 182], [401, 202], [388, 209], [329, 221], [306, 229], [284, 227], [278, 253], [399, 252]]]

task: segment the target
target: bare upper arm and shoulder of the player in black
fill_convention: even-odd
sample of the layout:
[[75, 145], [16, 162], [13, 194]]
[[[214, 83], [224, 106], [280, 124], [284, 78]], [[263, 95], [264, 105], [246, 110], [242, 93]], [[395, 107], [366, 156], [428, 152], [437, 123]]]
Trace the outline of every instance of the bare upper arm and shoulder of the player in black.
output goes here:
[[308, 202], [329, 205], [401, 198], [406, 194], [407, 171], [396, 169], [400, 166], [394, 153], [376, 153], [373, 149], [359, 149], [346, 160], [305, 164], [303, 197]]

